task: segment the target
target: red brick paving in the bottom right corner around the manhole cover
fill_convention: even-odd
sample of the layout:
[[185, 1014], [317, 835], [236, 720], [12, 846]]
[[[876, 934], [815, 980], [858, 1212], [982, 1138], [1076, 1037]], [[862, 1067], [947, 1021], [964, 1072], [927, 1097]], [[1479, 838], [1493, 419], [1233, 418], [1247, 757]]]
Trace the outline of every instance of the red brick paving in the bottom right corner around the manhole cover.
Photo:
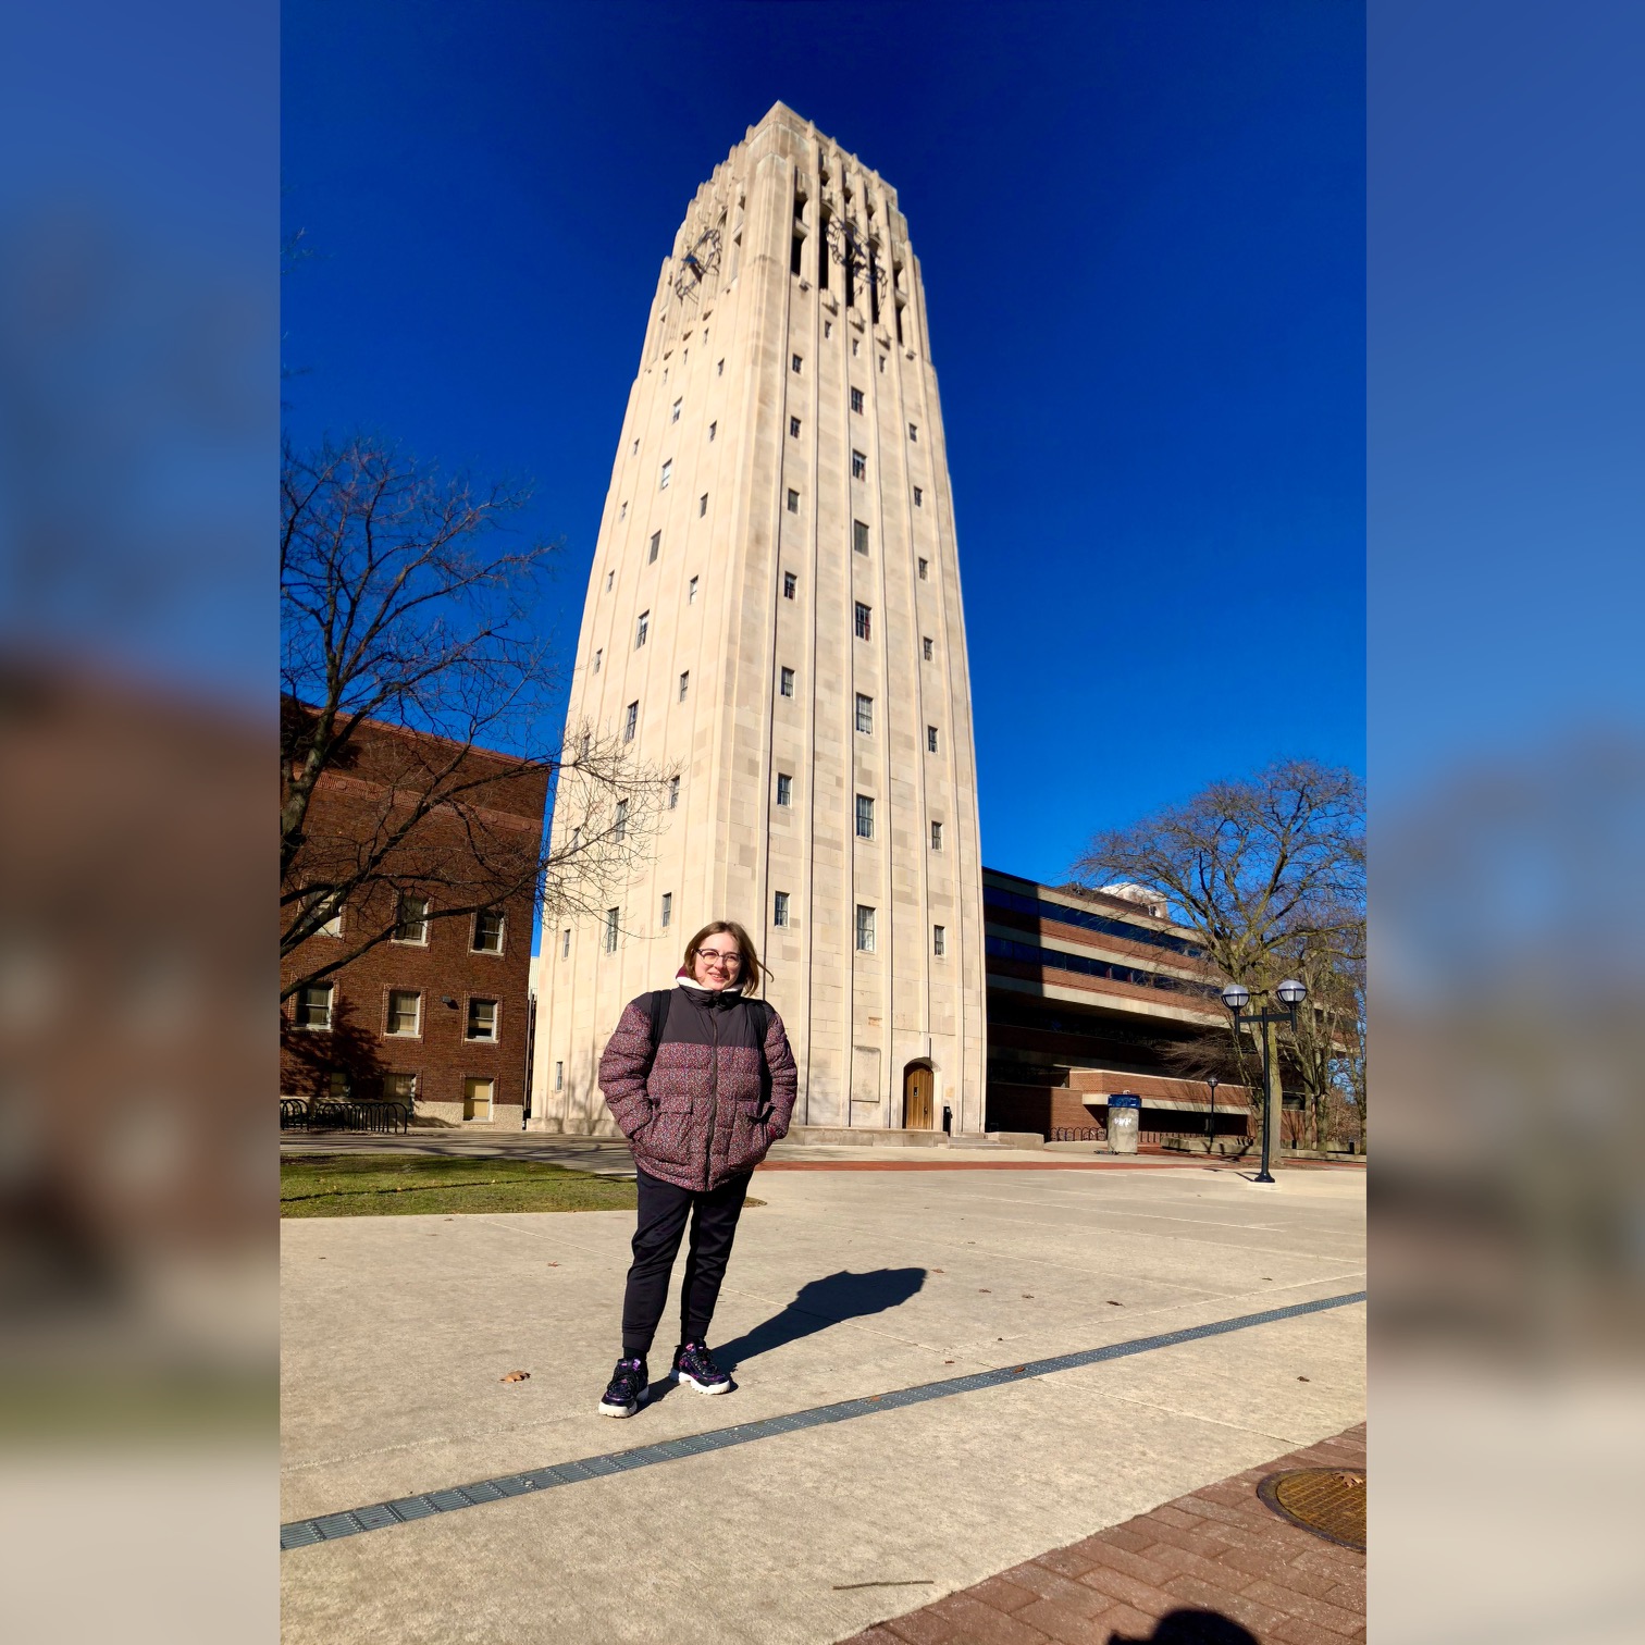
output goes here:
[[1365, 1556], [1298, 1530], [1257, 1484], [1365, 1467], [1365, 1425], [892, 1617], [847, 1645], [1342, 1645], [1365, 1637]]

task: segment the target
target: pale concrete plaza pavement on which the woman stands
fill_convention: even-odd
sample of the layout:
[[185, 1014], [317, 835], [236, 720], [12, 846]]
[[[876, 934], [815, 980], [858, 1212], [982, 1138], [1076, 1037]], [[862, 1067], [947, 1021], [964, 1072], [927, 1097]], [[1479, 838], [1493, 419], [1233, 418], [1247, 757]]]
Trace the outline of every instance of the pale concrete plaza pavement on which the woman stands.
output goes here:
[[[1364, 1285], [1352, 1170], [762, 1170], [752, 1191], [714, 1331], [737, 1392], [661, 1385], [622, 1423], [594, 1405], [632, 1212], [286, 1222], [281, 1518]], [[673, 1341], [668, 1318], [653, 1374]], [[298, 1548], [286, 1638], [824, 1645], [1349, 1428], [1362, 1359], [1342, 1306]]]

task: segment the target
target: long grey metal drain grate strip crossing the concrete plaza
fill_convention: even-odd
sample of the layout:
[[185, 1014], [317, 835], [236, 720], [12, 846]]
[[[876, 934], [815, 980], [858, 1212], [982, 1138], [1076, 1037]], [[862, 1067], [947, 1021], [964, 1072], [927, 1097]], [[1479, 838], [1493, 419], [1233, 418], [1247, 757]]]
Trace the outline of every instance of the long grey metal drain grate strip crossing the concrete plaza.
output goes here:
[[433, 1513], [454, 1513], [459, 1508], [479, 1507], [484, 1502], [498, 1502], [505, 1497], [528, 1495], [530, 1492], [546, 1490], [554, 1485], [571, 1485], [579, 1480], [600, 1479], [637, 1467], [651, 1467], [656, 1462], [673, 1462], [681, 1456], [696, 1456], [704, 1451], [750, 1444], [757, 1439], [793, 1433], [796, 1428], [852, 1421], [859, 1416], [872, 1416], [875, 1411], [920, 1405], [926, 1400], [941, 1400], [956, 1393], [972, 1393], [979, 1388], [1017, 1383], [1030, 1377], [1050, 1377], [1059, 1370], [1099, 1365], [1110, 1359], [1130, 1359], [1135, 1354], [1150, 1354], [1155, 1349], [1176, 1347], [1181, 1342], [1198, 1342], [1204, 1337], [1226, 1336], [1230, 1331], [1249, 1331], [1255, 1326], [1296, 1319], [1303, 1314], [1318, 1314], [1331, 1308], [1349, 1308], [1362, 1301], [1365, 1301], [1365, 1291], [1347, 1291], [1341, 1296], [1290, 1303], [1283, 1308], [1268, 1308], [1255, 1314], [1239, 1314], [1232, 1319], [1214, 1319], [1207, 1324], [1184, 1326], [1179, 1331], [1165, 1331], [1158, 1336], [1132, 1337], [1127, 1342], [1110, 1342], [1104, 1347], [1081, 1349], [1074, 1354], [1056, 1354], [1050, 1359], [1026, 1360], [1020, 1365], [1002, 1365], [995, 1370], [946, 1377], [939, 1382], [924, 1382], [913, 1388], [864, 1395], [855, 1400], [841, 1400], [836, 1405], [813, 1406], [806, 1411], [788, 1411], [781, 1416], [768, 1416], [760, 1421], [735, 1423], [730, 1428], [716, 1428], [707, 1433], [684, 1434], [653, 1444], [633, 1446], [627, 1451], [610, 1451], [571, 1462], [556, 1462], [551, 1467], [533, 1467], [518, 1474], [503, 1474], [497, 1479], [477, 1480], [472, 1485], [454, 1485], [419, 1495], [396, 1497], [393, 1502], [375, 1502], [360, 1508], [345, 1508], [341, 1513], [321, 1513], [313, 1518], [293, 1520], [290, 1525], [281, 1525], [280, 1546], [283, 1551], [313, 1548], [316, 1543], [359, 1536], [364, 1531], [387, 1530], [392, 1525], [405, 1525], [411, 1520], [428, 1518]]

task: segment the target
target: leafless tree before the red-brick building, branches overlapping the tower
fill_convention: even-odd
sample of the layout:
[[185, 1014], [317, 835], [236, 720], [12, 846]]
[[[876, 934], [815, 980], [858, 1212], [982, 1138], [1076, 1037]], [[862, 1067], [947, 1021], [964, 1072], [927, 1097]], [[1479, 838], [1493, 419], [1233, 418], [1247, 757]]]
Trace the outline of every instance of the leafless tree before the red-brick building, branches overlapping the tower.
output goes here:
[[[285, 451], [281, 957], [345, 906], [350, 929], [304, 951], [283, 999], [388, 941], [408, 893], [438, 890], [436, 920], [525, 892], [587, 913], [645, 855], [666, 773], [594, 727], [561, 742], [559, 679], [531, 622], [554, 544], [503, 535], [525, 498], [373, 438]], [[364, 824], [359, 804], [349, 826], [329, 818], [326, 778], [347, 775], [368, 796]], [[498, 804], [544, 781], [549, 846]]]

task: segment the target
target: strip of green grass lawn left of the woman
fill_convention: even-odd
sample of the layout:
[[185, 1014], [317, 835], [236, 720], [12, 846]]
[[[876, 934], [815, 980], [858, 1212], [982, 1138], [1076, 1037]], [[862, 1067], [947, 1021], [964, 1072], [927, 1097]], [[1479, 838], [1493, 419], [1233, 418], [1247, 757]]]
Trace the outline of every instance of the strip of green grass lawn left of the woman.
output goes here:
[[[541, 1160], [418, 1153], [288, 1153], [283, 1217], [459, 1216], [477, 1211], [633, 1211], [635, 1184]], [[748, 1198], [745, 1206], [762, 1206]]]

